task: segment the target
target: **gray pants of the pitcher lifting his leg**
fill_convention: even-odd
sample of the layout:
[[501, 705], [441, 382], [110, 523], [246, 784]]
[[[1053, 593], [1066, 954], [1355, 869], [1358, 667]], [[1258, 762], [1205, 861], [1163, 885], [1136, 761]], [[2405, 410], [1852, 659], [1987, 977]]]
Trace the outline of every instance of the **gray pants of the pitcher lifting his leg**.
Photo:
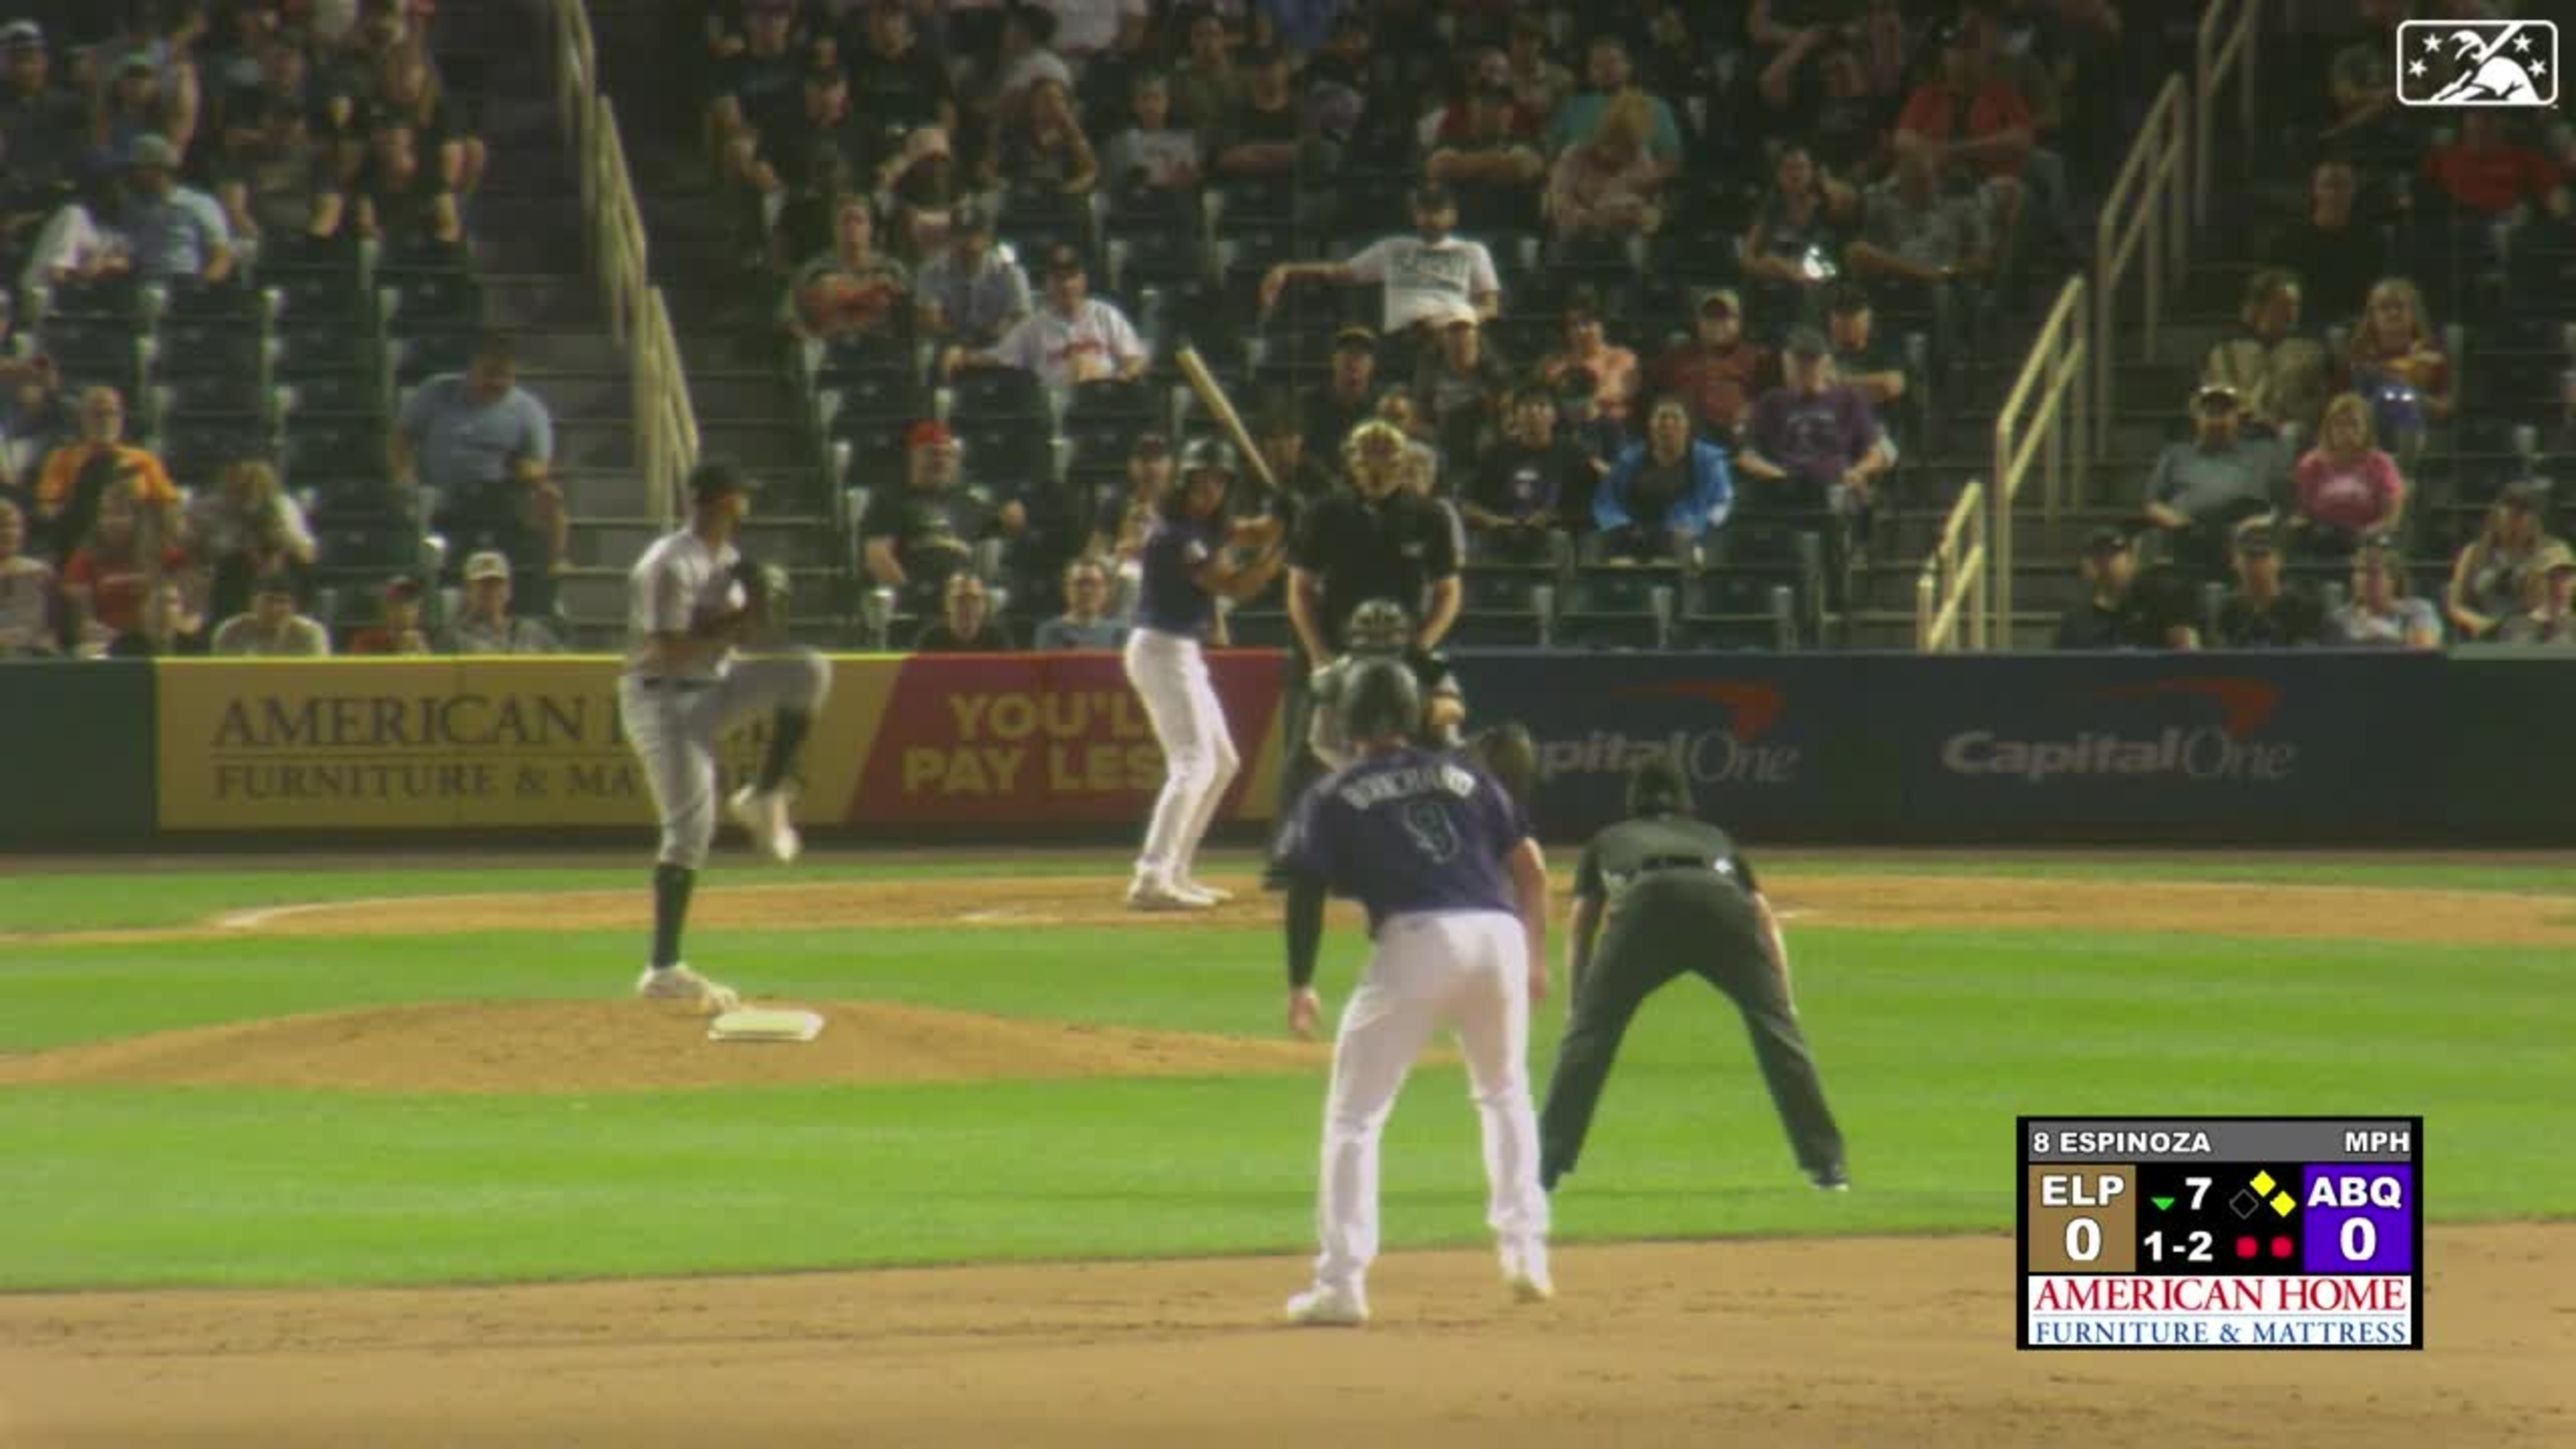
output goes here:
[[737, 660], [714, 681], [621, 678], [618, 717], [662, 817], [657, 859], [688, 869], [706, 864], [716, 838], [716, 740], [726, 730], [773, 709], [822, 709], [829, 694], [832, 665], [814, 650]]

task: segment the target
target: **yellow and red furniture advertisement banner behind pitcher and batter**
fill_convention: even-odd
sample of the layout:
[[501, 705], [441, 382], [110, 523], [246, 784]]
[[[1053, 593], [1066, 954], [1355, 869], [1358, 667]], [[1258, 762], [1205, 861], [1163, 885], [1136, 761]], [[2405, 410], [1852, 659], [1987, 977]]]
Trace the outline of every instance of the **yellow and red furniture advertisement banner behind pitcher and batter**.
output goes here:
[[[1278, 657], [1211, 655], [1244, 771], [1278, 779]], [[162, 660], [162, 830], [456, 830], [654, 822], [613, 657]], [[719, 745], [750, 779], [768, 722]], [[804, 750], [804, 825], [1144, 822], [1162, 750], [1113, 655], [832, 660]]]

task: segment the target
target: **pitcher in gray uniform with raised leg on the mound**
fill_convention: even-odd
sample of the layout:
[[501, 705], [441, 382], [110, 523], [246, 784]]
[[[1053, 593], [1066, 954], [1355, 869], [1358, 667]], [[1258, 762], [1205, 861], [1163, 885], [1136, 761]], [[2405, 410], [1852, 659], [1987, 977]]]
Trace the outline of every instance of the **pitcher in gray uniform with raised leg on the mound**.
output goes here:
[[832, 665], [814, 650], [737, 660], [750, 629], [781, 606], [773, 580], [739, 552], [734, 529], [750, 511], [752, 480], [729, 464], [688, 474], [688, 529], [665, 534], [626, 575], [626, 676], [618, 714], [644, 761], [662, 853], [652, 869], [652, 964], [636, 995], [698, 1000], [732, 1011], [737, 995], [680, 964], [688, 895], [716, 835], [716, 740], [737, 722], [770, 714], [770, 748], [755, 781], [734, 792], [732, 812], [770, 859], [796, 859], [788, 822], [788, 768], [814, 712], [832, 691]]

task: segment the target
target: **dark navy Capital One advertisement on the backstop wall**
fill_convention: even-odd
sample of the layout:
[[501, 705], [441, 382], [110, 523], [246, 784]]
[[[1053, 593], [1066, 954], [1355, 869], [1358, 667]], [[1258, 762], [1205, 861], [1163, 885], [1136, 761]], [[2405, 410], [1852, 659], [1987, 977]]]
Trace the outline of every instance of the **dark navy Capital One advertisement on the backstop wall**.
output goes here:
[[1855, 843], [2421, 825], [2439, 670], [2406, 652], [1461, 663], [1476, 724], [1535, 735], [1551, 835], [1618, 820], [1628, 771], [1664, 755], [1721, 825]]

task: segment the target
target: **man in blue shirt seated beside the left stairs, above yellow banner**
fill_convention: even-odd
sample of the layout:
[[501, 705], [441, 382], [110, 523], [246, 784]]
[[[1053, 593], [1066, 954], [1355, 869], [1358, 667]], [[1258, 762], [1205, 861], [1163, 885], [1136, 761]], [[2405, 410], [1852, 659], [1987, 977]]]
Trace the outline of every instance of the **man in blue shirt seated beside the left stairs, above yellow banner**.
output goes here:
[[500, 549], [528, 583], [528, 606], [551, 606], [572, 523], [549, 477], [554, 418], [518, 387], [507, 338], [487, 335], [466, 371], [422, 382], [402, 405], [392, 454], [397, 487], [435, 490], [430, 521], [453, 557]]

